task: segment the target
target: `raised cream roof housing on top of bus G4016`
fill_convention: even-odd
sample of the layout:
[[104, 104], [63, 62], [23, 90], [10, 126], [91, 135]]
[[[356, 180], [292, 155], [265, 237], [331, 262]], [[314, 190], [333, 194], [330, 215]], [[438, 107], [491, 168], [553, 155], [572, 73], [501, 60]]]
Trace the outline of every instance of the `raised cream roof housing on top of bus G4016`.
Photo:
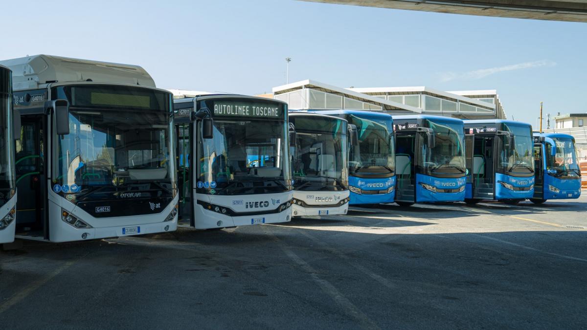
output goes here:
[[123, 83], [156, 87], [149, 73], [138, 65], [52, 55], [2, 60], [0, 65], [12, 70], [15, 90], [42, 88], [55, 82]]

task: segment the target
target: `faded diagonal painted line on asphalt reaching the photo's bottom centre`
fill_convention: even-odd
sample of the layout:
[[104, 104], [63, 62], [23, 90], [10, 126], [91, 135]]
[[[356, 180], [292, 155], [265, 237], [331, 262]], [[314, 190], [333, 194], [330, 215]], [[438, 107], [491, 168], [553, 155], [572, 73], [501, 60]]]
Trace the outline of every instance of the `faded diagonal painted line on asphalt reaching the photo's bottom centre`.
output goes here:
[[294, 261], [299, 267], [302, 268], [303, 271], [308, 273], [312, 280], [314, 280], [318, 285], [321, 287], [322, 291], [328, 294], [334, 301], [340, 305], [343, 309], [345, 309], [346, 314], [352, 316], [359, 322], [359, 325], [362, 329], [380, 329], [380, 327], [375, 324], [365, 313], [363, 313], [359, 308], [357, 308], [352, 302], [349, 301], [344, 295], [335, 288], [334, 285], [330, 284], [330, 282], [323, 280], [317, 274], [318, 272], [310, 265], [308, 262], [305, 262], [300, 258], [294, 251], [292, 251], [288, 245], [285, 244], [284, 241], [279, 240], [272, 233], [268, 233], [272, 236], [273, 240], [279, 244], [281, 250], [285, 252], [292, 261]]

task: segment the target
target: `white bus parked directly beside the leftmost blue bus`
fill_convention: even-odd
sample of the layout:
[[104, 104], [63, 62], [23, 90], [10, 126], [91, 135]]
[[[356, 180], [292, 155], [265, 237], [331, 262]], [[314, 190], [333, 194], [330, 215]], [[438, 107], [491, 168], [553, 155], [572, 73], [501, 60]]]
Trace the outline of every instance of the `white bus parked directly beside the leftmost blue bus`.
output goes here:
[[289, 123], [295, 130], [293, 216], [346, 214], [350, 199], [348, 122], [334, 116], [292, 112]]

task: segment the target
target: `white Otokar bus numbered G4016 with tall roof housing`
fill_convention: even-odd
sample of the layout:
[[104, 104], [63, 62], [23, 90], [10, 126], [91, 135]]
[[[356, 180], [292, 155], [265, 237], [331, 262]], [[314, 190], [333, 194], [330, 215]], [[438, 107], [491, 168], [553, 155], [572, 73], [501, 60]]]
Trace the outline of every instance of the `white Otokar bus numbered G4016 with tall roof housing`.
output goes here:
[[140, 66], [36, 55], [12, 69], [21, 113], [16, 237], [51, 242], [177, 228], [173, 96]]

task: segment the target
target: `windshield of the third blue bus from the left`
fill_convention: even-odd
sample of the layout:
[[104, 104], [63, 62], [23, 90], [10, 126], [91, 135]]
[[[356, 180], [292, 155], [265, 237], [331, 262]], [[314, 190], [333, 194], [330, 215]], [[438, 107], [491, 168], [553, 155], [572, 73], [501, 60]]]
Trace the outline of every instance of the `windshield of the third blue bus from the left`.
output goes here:
[[510, 135], [501, 136], [504, 148], [498, 162], [500, 169], [510, 174], [534, 173], [534, 140], [530, 127], [504, 124], [504, 129]]

